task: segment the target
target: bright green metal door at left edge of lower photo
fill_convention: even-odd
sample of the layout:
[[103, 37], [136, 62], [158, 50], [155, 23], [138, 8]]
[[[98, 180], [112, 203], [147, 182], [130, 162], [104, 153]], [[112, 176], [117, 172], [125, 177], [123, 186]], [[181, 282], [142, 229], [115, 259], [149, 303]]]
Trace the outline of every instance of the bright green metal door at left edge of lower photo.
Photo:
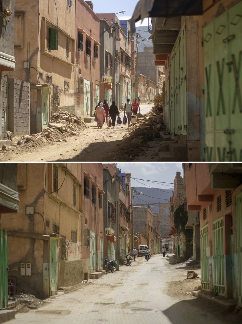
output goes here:
[[7, 260], [8, 260], [7, 231], [0, 228], [0, 309], [7, 307]]

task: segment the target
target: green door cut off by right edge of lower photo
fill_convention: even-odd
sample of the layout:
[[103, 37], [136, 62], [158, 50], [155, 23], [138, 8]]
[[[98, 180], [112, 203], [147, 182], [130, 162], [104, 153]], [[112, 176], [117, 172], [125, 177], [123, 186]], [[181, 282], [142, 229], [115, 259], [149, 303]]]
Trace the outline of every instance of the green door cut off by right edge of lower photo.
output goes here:
[[242, 307], [242, 193], [236, 196], [238, 305]]

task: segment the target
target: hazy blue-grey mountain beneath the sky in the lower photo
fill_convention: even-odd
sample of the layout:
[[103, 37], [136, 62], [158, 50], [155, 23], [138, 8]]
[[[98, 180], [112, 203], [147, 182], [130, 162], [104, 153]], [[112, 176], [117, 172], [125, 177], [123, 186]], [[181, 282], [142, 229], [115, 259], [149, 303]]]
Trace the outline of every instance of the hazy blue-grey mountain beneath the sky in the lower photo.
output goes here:
[[[143, 194], [134, 196], [134, 205], [149, 203], [150, 206], [152, 203], [168, 203], [167, 200], [170, 200], [172, 196], [172, 189], [160, 189], [160, 188], [147, 188], [147, 187], [135, 187], [137, 192], [143, 192]], [[147, 196], [150, 197], [147, 197]], [[159, 212], [159, 206], [153, 205], [150, 207], [152, 212]]]

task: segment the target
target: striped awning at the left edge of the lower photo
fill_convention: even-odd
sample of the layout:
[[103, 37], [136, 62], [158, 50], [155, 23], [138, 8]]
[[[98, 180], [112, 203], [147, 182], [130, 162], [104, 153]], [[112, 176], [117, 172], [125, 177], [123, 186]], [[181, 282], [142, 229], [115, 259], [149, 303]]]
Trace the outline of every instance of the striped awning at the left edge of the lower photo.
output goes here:
[[18, 211], [19, 193], [0, 183], [0, 211], [12, 213]]

